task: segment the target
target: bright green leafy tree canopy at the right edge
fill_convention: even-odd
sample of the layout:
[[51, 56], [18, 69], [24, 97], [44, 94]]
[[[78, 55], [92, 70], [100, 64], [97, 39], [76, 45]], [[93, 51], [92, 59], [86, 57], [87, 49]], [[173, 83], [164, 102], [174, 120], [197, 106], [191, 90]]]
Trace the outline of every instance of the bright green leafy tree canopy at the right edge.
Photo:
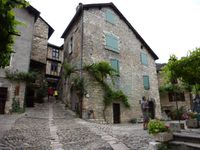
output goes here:
[[[161, 75], [165, 82], [161, 85], [160, 91], [187, 90], [197, 94], [200, 90], [200, 48], [189, 51], [189, 54], [180, 60], [175, 55], [170, 56]], [[179, 81], [179, 84], [174, 83], [176, 80]]]

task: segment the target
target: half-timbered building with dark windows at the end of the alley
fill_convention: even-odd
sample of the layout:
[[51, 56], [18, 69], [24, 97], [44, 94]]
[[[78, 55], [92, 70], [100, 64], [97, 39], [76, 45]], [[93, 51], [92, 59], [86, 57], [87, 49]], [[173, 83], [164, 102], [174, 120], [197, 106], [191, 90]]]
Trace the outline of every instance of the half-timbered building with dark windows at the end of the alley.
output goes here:
[[63, 62], [63, 46], [48, 43], [47, 63], [46, 63], [46, 80], [48, 85], [56, 88], [60, 78], [60, 70]]

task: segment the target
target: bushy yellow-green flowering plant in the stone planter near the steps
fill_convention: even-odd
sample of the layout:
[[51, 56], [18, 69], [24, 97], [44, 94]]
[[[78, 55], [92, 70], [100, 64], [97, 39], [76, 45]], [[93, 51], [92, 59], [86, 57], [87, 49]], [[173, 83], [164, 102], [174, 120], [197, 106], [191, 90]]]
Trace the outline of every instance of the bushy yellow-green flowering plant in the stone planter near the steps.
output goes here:
[[157, 134], [160, 132], [169, 132], [169, 127], [167, 127], [164, 122], [160, 120], [150, 120], [148, 123], [148, 132], [149, 134]]

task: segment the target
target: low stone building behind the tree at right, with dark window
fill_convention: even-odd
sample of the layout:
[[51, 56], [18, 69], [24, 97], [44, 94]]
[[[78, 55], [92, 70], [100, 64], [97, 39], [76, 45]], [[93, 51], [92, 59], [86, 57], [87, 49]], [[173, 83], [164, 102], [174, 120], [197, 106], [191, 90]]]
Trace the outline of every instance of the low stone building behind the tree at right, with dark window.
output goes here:
[[[161, 86], [164, 82], [164, 78], [161, 74], [162, 67], [166, 64], [156, 64], [158, 74], [158, 85]], [[176, 103], [177, 102], [177, 103]], [[177, 108], [184, 107], [186, 110], [192, 108], [192, 95], [190, 92], [184, 91], [182, 93], [174, 92], [160, 92], [160, 104], [161, 109], [166, 113], [170, 114]]]

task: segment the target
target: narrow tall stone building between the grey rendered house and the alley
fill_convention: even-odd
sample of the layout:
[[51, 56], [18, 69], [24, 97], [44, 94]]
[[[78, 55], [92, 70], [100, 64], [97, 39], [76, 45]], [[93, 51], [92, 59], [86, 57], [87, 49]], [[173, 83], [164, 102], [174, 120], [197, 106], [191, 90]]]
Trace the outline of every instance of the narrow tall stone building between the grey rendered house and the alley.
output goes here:
[[[35, 101], [41, 102], [45, 96], [45, 74], [47, 64], [48, 39], [53, 34], [54, 29], [39, 16], [34, 25], [33, 43], [30, 57], [30, 71], [39, 73], [35, 86], [37, 88], [27, 88], [27, 106], [33, 106]], [[43, 93], [43, 96], [40, 93]]]

